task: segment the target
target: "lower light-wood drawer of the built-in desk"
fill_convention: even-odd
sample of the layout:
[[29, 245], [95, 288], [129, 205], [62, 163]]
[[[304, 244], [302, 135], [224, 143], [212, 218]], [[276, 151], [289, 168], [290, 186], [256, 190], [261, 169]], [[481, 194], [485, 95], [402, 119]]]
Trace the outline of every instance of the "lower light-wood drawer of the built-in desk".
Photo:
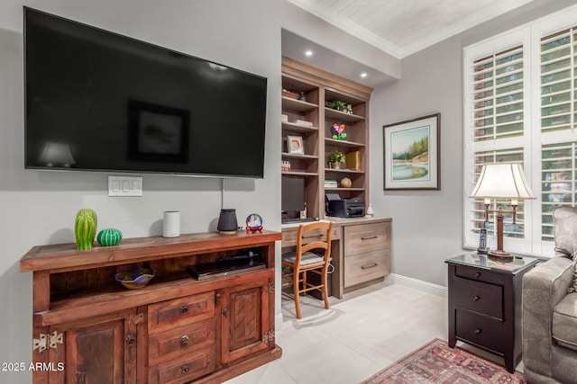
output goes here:
[[368, 252], [344, 258], [344, 286], [350, 287], [364, 281], [384, 277], [389, 271], [387, 265], [390, 250]]

